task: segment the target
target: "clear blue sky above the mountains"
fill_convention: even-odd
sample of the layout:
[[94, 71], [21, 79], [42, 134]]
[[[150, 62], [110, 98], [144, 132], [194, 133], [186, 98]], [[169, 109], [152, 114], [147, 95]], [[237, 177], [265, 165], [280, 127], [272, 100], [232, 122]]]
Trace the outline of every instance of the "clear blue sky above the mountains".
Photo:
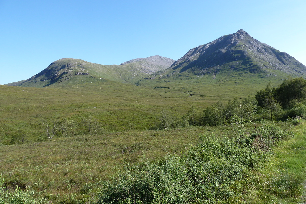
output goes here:
[[0, 0], [0, 84], [61, 58], [174, 60], [239, 29], [306, 65], [305, 0]]

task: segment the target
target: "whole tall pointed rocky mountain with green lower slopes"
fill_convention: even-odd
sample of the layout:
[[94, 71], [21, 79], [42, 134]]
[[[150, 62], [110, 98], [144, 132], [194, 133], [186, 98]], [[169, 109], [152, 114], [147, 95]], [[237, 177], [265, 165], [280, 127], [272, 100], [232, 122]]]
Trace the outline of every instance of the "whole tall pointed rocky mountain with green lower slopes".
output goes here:
[[231, 80], [243, 83], [250, 77], [252, 80], [257, 78], [257, 81], [279, 81], [288, 76], [305, 77], [306, 67], [289, 54], [259, 42], [244, 30], [238, 30], [189, 50], [168, 69], [146, 77], [137, 85], [156, 86], [155, 82], [162, 83], [163, 80], [169, 84], [169, 80], [201, 78], [211, 83]]

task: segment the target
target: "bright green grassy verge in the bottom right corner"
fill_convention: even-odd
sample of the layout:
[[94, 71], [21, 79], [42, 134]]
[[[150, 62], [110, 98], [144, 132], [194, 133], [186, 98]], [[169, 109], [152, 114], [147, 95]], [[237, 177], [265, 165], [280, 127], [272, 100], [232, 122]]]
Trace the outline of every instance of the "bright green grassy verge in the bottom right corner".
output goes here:
[[[293, 138], [273, 149], [273, 157], [254, 172], [248, 203], [300, 203], [304, 192], [306, 162], [306, 122], [292, 128]], [[303, 198], [304, 199], [304, 198]], [[305, 200], [303, 200], [305, 202]]]

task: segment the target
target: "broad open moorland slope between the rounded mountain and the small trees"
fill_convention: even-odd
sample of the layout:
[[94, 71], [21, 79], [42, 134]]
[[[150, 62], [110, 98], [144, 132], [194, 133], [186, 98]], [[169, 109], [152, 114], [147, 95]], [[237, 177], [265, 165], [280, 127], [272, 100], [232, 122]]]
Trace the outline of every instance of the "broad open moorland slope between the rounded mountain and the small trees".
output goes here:
[[[162, 110], [184, 114], [195, 105], [203, 111], [211, 101], [199, 101], [182, 92], [155, 90], [116, 82], [87, 83], [60, 88], [0, 86], [0, 140], [8, 144], [19, 130], [30, 132], [35, 141], [44, 132], [44, 119], [66, 117], [80, 122], [96, 117], [103, 128], [112, 131], [154, 126]], [[201, 107], [200, 107], [201, 106]], [[32, 136], [31, 136], [32, 135]]]

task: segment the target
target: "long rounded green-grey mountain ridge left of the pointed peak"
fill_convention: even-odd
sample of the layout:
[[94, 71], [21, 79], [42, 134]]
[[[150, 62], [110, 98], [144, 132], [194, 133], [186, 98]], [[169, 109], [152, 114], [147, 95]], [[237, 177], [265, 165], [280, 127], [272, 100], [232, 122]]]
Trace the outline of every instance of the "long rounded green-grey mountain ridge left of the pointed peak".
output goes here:
[[73, 85], [84, 82], [113, 80], [128, 82], [142, 79], [154, 72], [168, 68], [174, 60], [151, 56], [138, 58], [121, 65], [100, 65], [80, 59], [63, 58], [51, 63], [46, 69], [28, 80], [6, 85], [23, 87], [46, 87], [50, 85]]

